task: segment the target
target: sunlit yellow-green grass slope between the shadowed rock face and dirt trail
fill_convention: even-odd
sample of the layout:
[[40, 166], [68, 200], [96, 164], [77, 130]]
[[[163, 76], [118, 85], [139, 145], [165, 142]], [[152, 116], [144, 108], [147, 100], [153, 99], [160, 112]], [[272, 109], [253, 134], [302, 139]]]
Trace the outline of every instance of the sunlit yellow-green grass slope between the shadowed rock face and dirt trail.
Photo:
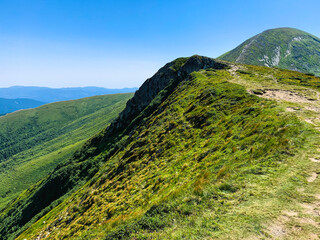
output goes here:
[[[250, 82], [242, 77], [270, 72], [239, 74]], [[193, 73], [122, 148], [93, 157], [107, 161], [90, 181], [17, 239], [267, 237], [265, 224], [307, 196], [297, 191], [307, 166], [298, 161], [317, 134], [233, 79], [227, 70]]]

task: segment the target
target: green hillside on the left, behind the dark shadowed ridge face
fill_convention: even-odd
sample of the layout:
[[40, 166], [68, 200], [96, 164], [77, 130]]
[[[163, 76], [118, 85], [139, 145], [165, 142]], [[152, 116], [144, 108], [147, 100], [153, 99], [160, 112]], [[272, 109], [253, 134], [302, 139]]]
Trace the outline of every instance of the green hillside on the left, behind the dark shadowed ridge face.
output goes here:
[[52, 103], [1, 117], [0, 209], [105, 128], [132, 95]]

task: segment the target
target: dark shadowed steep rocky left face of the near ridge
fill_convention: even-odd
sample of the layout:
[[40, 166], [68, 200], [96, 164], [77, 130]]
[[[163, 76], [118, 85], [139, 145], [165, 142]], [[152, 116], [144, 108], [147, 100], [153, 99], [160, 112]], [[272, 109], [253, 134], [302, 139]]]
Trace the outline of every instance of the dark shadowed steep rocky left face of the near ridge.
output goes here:
[[227, 65], [210, 58], [195, 56], [177, 59], [161, 68], [140, 87], [128, 101], [125, 110], [107, 129], [86, 142], [71, 159], [60, 164], [47, 178], [3, 210], [0, 236], [8, 238], [11, 234], [23, 231], [91, 179], [106, 160], [104, 157], [95, 156], [102, 152], [111, 156], [123, 147], [125, 138], [139, 126], [143, 118], [159, 107], [162, 99], [165, 99], [180, 81], [191, 72], [210, 66], [222, 69]]

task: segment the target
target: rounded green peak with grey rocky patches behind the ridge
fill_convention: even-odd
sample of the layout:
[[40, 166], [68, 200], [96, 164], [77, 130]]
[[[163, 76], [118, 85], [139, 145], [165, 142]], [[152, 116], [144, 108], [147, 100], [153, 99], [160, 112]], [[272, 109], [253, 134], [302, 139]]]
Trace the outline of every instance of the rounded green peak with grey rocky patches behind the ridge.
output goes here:
[[293, 28], [262, 32], [219, 59], [320, 75], [320, 39]]

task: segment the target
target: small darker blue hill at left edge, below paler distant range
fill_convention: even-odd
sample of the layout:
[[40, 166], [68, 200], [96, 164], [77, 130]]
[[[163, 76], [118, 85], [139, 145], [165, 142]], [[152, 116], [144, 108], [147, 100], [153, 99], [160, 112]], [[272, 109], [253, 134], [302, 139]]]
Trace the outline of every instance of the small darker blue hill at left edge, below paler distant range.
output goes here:
[[25, 99], [25, 98], [18, 98], [18, 99], [0, 98], [0, 116], [17, 111], [17, 110], [21, 110], [21, 109], [39, 107], [43, 104], [45, 103], [32, 100], [32, 99]]

